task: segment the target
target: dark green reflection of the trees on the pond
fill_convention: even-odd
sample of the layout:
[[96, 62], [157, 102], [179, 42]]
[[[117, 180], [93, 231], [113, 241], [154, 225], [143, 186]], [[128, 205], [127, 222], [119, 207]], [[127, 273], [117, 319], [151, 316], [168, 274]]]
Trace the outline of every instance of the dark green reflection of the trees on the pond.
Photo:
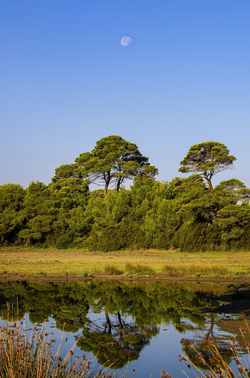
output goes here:
[[[209, 363], [211, 355], [202, 346], [202, 339], [218, 341], [227, 362], [232, 355], [228, 341], [214, 334], [217, 314], [201, 312], [204, 307], [218, 306], [211, 299], [215, 294], [237, 292], [237, 284], [195, 282], [3, 282], [0, 284], [2, 319], [6, 319], [6, 301], [12, 302], [19, 319], [26, 312], [33, 323], [50, 316], [56, 327], [66, 332], [79, 332], [78, 346], [97, 355], [98, 363], [121, 361], [119, 367], [139, 358], [145, 345], [160, 331], [160, 325], [174, 325], [188, 338]], [[17, 301], [18, 298], [18, 301]], [[93, 314], [99, 314], [93, 316]], [[217, 322], [217, 323], [216, 323]], [[239, 333], [239, 331], [238, 331]], [[191, 336], [191, 337], [190, 337]], [[183, 352], [199, 365], [196, 353], [185, 339]], [[177, 357], [177, 356], [176, 356]], [[202, 366], [200, 366], [202, 367]]]

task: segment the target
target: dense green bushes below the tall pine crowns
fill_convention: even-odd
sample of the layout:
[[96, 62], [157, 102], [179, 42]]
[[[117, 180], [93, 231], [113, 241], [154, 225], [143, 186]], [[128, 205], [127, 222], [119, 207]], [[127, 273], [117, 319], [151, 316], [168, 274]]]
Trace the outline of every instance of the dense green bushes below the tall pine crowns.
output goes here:
[[[190, 198], [186, 189], [180, 191], [187, 179], [160, 183], [140, 177], [131, 189], [110, 190], [106, 196], [101, 189], [90, 192], [86, 181], [76, 185], [76, 178], [67, 180], [65, 186], [59, 186], [59, 180], [48, 186], [33, 182], [26, 190], [16, 184], [0, 186], [2, 245], [80, 246], [103, 252], [123, 248], [179, 248], [188, 252], [219, 245], [224, 249], [250, 248], [249, 223], [241, 225], [238, 220], [241, 232], [224, 242], [225, 228], [219, 222], [208, 222], [205, 206], [196, 206], [198, 196], [193, 196], [199, 192], [201, 197], [204, 189], [199, 182], [197, 190], [193, 184], [194, 198]], [[234, 209], [237, 206], [242, 209], [242, 205], [234, 205]]]

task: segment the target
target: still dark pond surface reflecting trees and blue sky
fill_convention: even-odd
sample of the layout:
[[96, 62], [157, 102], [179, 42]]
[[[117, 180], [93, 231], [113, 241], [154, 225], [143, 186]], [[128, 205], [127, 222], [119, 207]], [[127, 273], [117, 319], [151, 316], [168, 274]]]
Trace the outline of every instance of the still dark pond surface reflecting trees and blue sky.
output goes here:
[[136, 369], [135, 378], [150, 377], [151, 372], [160, 377], [159, 367], [173, 377], [184, 377], [181, 368], [191, 377], [179, 354], [204, 367], [181, 340], [190, 339], [199, 349], [208, 333], [218, 342], [224, 359], [233, 364], [228, 337], [235, 336], [243, 346], [240, 313], [242, 306], [248, 306], [249, 288], [215, 282], [0, 282], [0, 308], [2, 321], [7, 316], [6, 302], [20, 320], [28, 314], [27, 327], [46, 321], [57, 343], [64, 327], [67, 350], [79, 337], [76, 355], [99, 352], [99, 364], [107, 359], [120, 361], [117, 372], [125, 371], [129, 359], [128, 373]]

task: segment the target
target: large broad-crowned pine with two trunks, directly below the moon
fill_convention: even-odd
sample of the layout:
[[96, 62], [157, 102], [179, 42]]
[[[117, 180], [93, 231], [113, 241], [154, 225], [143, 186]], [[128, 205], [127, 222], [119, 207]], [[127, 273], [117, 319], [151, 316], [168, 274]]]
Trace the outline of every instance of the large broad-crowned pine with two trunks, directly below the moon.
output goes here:
[[81, 153], [75, 160], [78, 167], [83, 167], [91, 183], [108, 186], [113, 184], [116, 191], [127, 179], [145, 174], [154, 177], [157, 168], [150, 166], [148, 158], [142, 156], [134, 143], [125, 141], [121, 136], [110, 135], [96, 142], [91, 152]]

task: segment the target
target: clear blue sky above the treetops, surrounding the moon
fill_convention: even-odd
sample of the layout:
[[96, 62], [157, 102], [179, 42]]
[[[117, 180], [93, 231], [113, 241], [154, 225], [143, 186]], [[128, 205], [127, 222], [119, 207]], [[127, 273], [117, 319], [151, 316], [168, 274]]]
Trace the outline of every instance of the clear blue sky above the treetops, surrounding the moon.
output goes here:
[[250, 0], [2, 0], [0, 38], [0, 184], [48, 184], [120, 135], [168, 181], [224, 143], [215, 183], [250, 186]]

